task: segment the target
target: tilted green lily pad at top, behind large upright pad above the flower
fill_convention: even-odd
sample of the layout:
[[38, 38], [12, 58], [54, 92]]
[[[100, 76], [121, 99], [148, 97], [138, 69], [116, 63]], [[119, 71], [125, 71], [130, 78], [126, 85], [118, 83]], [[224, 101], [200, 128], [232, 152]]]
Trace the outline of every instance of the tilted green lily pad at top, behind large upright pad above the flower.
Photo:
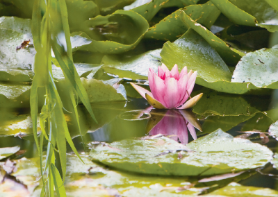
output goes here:
[[[199, 24], [210, 28], [220, 15], [220, 10], [211, 1], [204, 4], [191, 5], [181, 9], [190, 15], [191, 19]], [[174, 41], [188, 30], [188, 26], [181, 20], [181, 10], [173, 12], [165, 17], [161, 22], [149, 28], [145, 38], [155, 38], [158, 40]]]

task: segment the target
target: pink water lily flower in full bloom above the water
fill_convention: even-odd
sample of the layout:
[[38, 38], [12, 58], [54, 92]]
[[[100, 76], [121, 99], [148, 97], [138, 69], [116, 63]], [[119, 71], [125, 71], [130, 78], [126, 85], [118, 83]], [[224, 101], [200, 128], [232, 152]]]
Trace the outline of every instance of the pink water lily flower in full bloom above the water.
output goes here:
[[187, 67], [184, 67], [179, 74], [178, 66], [174, 65], [171, 71], [162, 64], [158, 67], [158, 74], [154, 72], [152, 68], [149, 69], [149, 88], [140, 87], [134, 83], [131, 85], [137, 90], [142, 97], [147, 99], [150, 105], [157, 109], [187, 109], [202, 98], [203, 93], [190, 97], [190, 94], [195, 85], [197, 71], [187, 71]]

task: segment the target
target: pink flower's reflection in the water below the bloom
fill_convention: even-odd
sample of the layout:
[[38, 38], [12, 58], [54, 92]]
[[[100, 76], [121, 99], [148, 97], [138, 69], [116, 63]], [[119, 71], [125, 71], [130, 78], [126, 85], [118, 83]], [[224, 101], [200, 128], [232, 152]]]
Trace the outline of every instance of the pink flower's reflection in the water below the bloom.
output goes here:
[[188, 130], [193, 139], [197, 139], [195, 128], [202, 131], [199, 121], [187, 110], [152, 110], [151, 114], [147, 124], [149, 135], [162, 134], [188, 144]]

